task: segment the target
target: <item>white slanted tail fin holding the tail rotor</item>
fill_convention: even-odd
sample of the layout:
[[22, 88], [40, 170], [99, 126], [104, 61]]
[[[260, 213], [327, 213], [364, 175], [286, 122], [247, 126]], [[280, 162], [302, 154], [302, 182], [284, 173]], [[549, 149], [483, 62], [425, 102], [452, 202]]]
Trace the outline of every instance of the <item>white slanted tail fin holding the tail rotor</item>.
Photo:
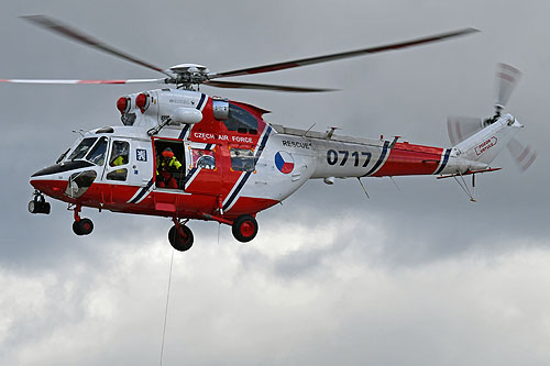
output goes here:
[[454, 146], [457, 156], [488, 165], [522, 126], [512, 114], [505, 114]]

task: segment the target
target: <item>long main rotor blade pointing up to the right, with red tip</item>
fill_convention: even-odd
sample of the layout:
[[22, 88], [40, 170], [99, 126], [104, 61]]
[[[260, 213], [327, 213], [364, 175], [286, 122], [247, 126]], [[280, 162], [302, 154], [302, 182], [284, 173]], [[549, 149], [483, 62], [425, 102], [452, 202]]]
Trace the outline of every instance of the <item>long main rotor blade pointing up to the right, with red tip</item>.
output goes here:
[[362, 49], [343, 52], [343, 53], [331, 54], [331, 55], [326, 55], [326, 56], [296, 59], [296, 60], [290, 60], [290, 62], [286, 62], [286, 63], [255, 66], [255, 67], [249, 67], [249, 68], [232, 70], [232, 71], [213, 73], [213, 74], [209, 75], [209, 79], [284, 70], [287, 68], [294, 68], [294, 67], [327, 63], [327, 62], [331, 62], [331, 60], [336, 60], [336, 59], [362, 56], [365, 54], [376, 54], [376, 53], [386, 52], [386, 51], [418, 46], [421, 44], [437, 42], [437, 41], [443, 41], [447, 38], [466, 35], [466, 34], [474, 33], [474, 32], [479, 32], [479, 31], [475, 29], [472, 29], [472, 27], [468, 27], [468, 29], [463, 29], [463, 30], [449, 32], [449, 33], [441, 33], [441, 34], [436, 34], [436, 35], [422, 37], [422, 38], [399, 42], [399, 43], [393, 43], [393, 44], [382, 45], [382, 46], [377, 46], [377, 47], [362, 48]]

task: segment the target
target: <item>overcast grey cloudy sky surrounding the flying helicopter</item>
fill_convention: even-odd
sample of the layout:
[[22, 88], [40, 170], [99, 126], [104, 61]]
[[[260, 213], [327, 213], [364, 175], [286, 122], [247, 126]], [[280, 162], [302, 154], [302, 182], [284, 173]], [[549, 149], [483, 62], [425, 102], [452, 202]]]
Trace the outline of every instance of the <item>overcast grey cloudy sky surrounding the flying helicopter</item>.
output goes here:
[[[493, 112], [498, 62], [524, 71], [508, 111], [538, 151], [520, 175], [479, 179], [479, 202], [433, 177], [310, 181], [258, 214], [248, 245], [193, 222], [176, 253], [165, 365], [548, 365], [550, 229], [547, 1], [4, 1], [0, 78], [150, 78], [153, 71], [42, 31], [47, 14], [161, 66], [224, 71], [464, 26], [455, 41], [255, 78], [333, 87], [284, 95], [205, 88], [272, 110], [273, 123], [449, 145], [448, 114]], [[0, 86], [0, 364], [158, 363], [172, 248], [169, 221], [26, 212], [29, 176], [77, 137], [119, 124], [120, 86]]]

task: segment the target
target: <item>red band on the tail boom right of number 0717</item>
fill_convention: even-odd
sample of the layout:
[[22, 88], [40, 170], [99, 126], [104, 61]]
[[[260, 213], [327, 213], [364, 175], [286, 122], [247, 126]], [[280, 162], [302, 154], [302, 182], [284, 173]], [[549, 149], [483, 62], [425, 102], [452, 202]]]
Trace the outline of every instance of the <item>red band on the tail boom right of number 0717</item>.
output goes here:
[[438, 168], [442, 153], [441, 147], [397, 143], [374, 176], [431, 175]]

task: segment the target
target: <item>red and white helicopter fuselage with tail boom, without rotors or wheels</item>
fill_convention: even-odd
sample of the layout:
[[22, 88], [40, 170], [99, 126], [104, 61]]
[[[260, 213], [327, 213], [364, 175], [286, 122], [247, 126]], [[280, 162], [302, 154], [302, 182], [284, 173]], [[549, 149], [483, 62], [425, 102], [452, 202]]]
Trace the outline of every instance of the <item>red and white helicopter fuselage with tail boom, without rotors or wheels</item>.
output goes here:
[[[188, 90], [132, 95], [117, 106], [127, 125], [85, 133], [55, 165], [31, 177], [38, 192], [76, 206], [77, 221], [81, 207], [92, 207], [232, 224], [283, 201], [309, 179], [330, 185], [336, 178], [487, 167], [461, 158], [455, 148], [268, 124], [265, 110]], [[495, 144], [487, 133], [476, 147], [483, 154]], [[172, 187], [160, 184], [166, 148], [182, 164], [170, 171]]]

